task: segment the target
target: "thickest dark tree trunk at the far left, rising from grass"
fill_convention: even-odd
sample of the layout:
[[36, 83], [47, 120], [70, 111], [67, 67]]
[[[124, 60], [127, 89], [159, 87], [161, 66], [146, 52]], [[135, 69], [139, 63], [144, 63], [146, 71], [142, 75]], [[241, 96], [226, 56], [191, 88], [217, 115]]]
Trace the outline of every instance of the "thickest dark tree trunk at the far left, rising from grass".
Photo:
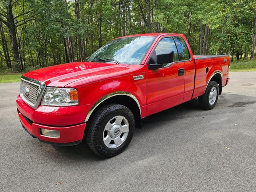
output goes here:
[[7, 27], [9, 29], [10, 43], [11, 43], [11, 49], [12, 49], [13, 69], [14, 71], [18, 72], [18, 71], [21, 71], [21, 66], [20, 66], [20, 56], [19, 56], [17, 36], [16, 36], [16, 27], [15, 27], [14, 17], [12, 13], [12, 1], [9, 1], [6, 10], [7, 10], [6, 13], [8, 18]]

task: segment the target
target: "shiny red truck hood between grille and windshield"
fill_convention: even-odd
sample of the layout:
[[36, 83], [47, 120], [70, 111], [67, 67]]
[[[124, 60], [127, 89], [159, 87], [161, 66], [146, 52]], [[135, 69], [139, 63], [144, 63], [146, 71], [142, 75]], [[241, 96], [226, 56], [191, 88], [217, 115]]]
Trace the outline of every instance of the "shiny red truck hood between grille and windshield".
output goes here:
[[41, 68], [24, 76], [44, 82], [46, 86], [64, 87], [83, 78], [118, 75], [128, 65], [97, 62], [73, 62]]

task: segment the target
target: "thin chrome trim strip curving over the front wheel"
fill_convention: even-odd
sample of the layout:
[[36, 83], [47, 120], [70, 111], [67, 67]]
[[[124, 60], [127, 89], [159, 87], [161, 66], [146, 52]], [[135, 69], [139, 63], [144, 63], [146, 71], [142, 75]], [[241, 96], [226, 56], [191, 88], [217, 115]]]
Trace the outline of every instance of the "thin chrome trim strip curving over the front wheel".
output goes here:
[[[131, 98], [137, 103], [138, 108], [140, 109], [140, 103], [139, 103], [139, 101], [137, 100], [137, 98], [136, 98], [133, 94], [131, 94], [131, 93], [129, 93], [129, 92], [123, 92], [123, 91], [112, 92], [112, 93], [110, 93], [110, 94], [105, 95], [104, 97], [102, 97], [100, 100], [98, 100], [98, 101], [92, 106], [92, 108], [89, 110], [89, 112], [88, 112], [88, 114], [87, 114], [87, 116], [86, 116], [84, 122], [87, 122], [87, 121], [89, 120], [89, 118], [90, 118], [92, 112], [96, 109], [97, 106], [99, 106], [102, 102], [104, 102], [104, 101], [107, 100], [108, 98], [113, 97], [113, 96], [117, 96], [117, 95], [126, 95], [126, 96], [131, 97]], [[140, 114], [141, 114], [141, 109], [140, 109]]]

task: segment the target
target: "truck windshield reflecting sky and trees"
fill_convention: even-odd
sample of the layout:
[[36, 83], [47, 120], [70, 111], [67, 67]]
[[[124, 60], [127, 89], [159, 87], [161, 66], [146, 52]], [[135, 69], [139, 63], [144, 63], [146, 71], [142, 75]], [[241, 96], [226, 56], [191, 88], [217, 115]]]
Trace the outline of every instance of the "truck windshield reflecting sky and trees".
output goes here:
[[133, 36], [114, 39], [88, 58], [91, 62], [140, 64], [155, 37]]

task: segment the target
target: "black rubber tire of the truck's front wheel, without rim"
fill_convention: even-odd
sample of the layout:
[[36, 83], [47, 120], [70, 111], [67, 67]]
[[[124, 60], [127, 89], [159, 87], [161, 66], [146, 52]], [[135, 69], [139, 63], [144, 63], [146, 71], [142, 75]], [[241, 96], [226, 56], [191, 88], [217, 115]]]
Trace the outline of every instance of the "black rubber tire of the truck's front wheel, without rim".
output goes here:
[[[124, 116], [129, 123], [128, 136], [117, 148], [108, 148], [103, 141], [103, 132], [109, 120], [115, 116]], [[123, 152], [132, 140], [135, 129], [134, 115], [126, 106], [120, 104], [107, 104], [93, 112], [86, 126], [86, 142], [99, 156], [110, 158]]]

